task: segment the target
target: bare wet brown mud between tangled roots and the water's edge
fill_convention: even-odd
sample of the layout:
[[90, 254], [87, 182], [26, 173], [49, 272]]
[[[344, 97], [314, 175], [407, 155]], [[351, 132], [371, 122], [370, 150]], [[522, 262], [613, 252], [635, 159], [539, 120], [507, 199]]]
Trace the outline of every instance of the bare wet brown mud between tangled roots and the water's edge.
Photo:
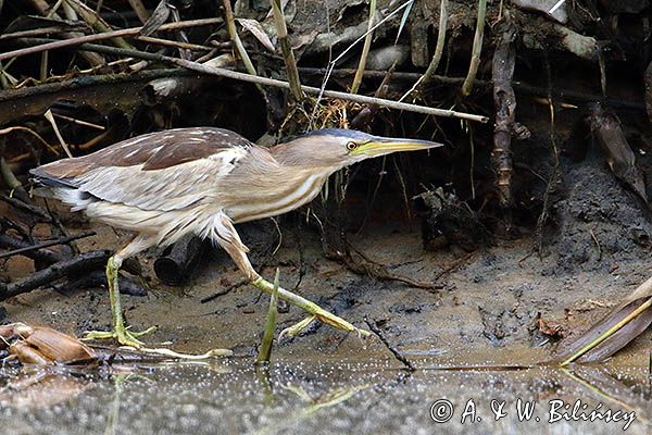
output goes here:
[[[609, 250], [609, 238], [603, 235], [613, 232], [595, 229], [595, 222], [585, 224], [600, 243], [602, 259], [598, 259], [598, 246], [588, 229], [570, 232], [582, 236], [575, 243], [560, 232], [559, 238], [566, 241], [556, 246], [564, 250], [539, 258], [532, 253], [532, 238], [496, 240], [493, 246], [473, 252], [454, 247], [426, 251], [417, 223], [392, 221], [392, 215], [393, 211], [384, 214], [379, 210], [361, 234], [349, 238], [350, 243], [392, 273], [437, 279], [440, 290], [377, 281], [327, 260], [319, 234], [306, 227], [300, 216], [280, 220], [283, 240], [271, 257], [269, 250], [278, 244], [272, 223], [248, 224], [241, 233], [263, 275], [272, 276], [279, 266], [286, 288], [358, 326], [367, 328], [365, 321], [373, 322], [387, 344], [406, 358], [427, 358], [440, 364], [526, 364], [544, 359], [561, 336], [584, 331], [649, 272], [644, 257]], [[128, 239], [106, 227], [96, 229], [99, 235], [84, 240], [83, 249], [110, 248]], [[617, 239], [627, 243], [623, 235]], [[574, 252], [588, 252], [589, 259], [572, 262], [568, 259]], [[135, 330], [156, 325], [158, 332], [148, 341], [170, 340], [178, 350], [228, 347], [237, 355], [255, 356], [268, 297], [246, 285], [234, 286], [241, 276], [225, 252], [209, 249], [181, 287], [165, 286], [154, 277], [154, 259], [155, 251], [139, 257], [147, 296], [124, 295], [126, 318]], [[16, 277], [30, 271], [28, 261], [17, 259], [5, 268]], [[223, 295], [201, 302], [215, 294]], [[3, 322], [47, 324], [74, 334], [110, 325], [105, 288], [64, 293], [46, 288], [2, 306], [7, 310]], [[301, 319], [303, 312], [289, 307], [279, 314], [279, 330]], [[274, 358], [383, 358], [401, 364], [377, 337], [362, 341], [324, 325], [313, 326], [278, 344]], [[647, 333], [615, 361], [643, 363], [649, 345]]]

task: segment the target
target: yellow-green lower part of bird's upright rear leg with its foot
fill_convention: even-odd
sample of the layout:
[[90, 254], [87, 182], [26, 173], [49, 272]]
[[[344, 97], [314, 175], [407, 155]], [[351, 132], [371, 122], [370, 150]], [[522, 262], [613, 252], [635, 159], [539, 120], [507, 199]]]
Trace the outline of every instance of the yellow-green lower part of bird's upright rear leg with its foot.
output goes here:
[[106, 263], [106, 282], [109, 285], [109, 298], [111, 299], [111, 313], [113, 315], [113, 331], [91, 331], [86, 334], [85, 339], [106, 339], [114, 338], [123, 346], [135, 348], [142, 347], [142, 341], [138, 339], [141, 335], [153, 332], [156, 327], [152, 326], [141, 333], [129, 332], [129, 327], [125, 326], [125, 321], [122, 314], [122, 304], [120, 301], [120, 288], [117, 286], [117, 271], [121, 262], [111, 257]]

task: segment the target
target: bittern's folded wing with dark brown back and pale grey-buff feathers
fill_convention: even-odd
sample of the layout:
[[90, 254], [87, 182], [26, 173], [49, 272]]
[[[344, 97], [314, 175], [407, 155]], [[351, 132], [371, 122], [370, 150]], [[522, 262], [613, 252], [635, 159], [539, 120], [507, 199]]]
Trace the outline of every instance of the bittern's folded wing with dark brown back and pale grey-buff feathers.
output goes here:
[[[115, 144], [89, 156], [32, 171], [37, 183], [59, 188], [76, 209], [88, 196], [142, 210], [175, 210], [210, 195], [221, 177], [254, 147], [220, 128], [179, 128]], [[65, 191], [61, 191], [65, 190]], [[71, 195], [74, 190], [75, 195]]]

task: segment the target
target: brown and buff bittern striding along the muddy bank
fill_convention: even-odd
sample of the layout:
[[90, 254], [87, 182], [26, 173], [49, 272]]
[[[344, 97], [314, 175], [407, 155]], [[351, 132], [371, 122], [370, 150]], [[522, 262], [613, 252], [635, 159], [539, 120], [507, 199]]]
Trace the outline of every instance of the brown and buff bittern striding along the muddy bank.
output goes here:
[[211, 239], [234, 260], [247, 281], [262, 291], [302, 308], [308, 318], [368, 335], [314, 302], [275, 287], [251, 265], [249, 249], [234, 224], [272, 217], [312, 201], [335, 172], [363, 160], [398, 151], [441, 147], [422, 139], [389, 138], [324, 128], [272, 147], [217, 127], [186, 127], [133, 137], [93, 153], [58, 160], [30, 171], [37, 195], [54, 197], [72, 211], [134, 233], [106, 263], [111, 331], [89, 339], [117, 340], [142, 348], [125, 324], [117, 274], [123, 261], [151, 247], [165, 247], [187, 234]]

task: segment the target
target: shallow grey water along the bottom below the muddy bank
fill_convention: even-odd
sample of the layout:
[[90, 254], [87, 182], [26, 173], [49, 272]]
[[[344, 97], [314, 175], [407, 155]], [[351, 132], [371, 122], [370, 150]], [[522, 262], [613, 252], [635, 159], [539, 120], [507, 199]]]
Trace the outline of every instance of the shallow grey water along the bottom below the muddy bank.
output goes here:
[[[627, 427], [629, 434], [649, 434], [650, 388], [648, 368], [409, 372], [385, 363], [286, 362], [261, 370], [249, 361], [231, 360], [95, 371], [5, 369], [0, 370], [0, 430], [2, 434], [613, 434]], [[518, 418], [518, 399], [522, 410], [525, 402], [535, 403], [529, 419]], [[567, 421], [562, 408], [551, 412], [551, 407], [577, 400], [581, 400], [578, 419], [590, 417], [597, 407], [626, 414], [614, 414], [617, 422], [590, 422]], [[451, 410], [446, 422], [432, 418], [447, 420]], [[497, 413], [504, 415], [497, 420]], [[551, 418], [560, 420], [549, 422]]]

